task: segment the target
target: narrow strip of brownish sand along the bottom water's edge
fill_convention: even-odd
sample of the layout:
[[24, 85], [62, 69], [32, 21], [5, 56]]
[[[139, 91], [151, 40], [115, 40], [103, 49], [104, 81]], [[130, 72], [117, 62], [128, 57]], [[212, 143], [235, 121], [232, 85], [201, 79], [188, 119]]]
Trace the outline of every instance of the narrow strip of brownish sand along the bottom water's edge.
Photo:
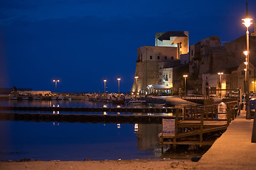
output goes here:
[[164, 161], [147, 161], [147, 160], [122, 160], [122, 161], [84, 161], [84, 162], [0, 162], [1, 170], [12, 169], [112, 169], [112, 170], [127, 170], [127, 169], [146, 169], [146, 170], [161, 170], [161, 169], [196, 169], [197, 162], [191, 160], [164, 160]]

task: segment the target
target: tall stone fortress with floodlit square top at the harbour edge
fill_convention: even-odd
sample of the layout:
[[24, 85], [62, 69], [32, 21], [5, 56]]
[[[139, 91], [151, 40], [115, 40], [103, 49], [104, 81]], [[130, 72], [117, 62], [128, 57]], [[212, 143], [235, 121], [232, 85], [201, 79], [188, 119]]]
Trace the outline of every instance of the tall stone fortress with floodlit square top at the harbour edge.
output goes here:
[[138, 49], [134, 95], [149, 94], [151, 87], [154, 93], [174, 93], [174, 67], [181, 64], [181, 55], [188, 53], [188, 31], [156, 33], [155, 45]]

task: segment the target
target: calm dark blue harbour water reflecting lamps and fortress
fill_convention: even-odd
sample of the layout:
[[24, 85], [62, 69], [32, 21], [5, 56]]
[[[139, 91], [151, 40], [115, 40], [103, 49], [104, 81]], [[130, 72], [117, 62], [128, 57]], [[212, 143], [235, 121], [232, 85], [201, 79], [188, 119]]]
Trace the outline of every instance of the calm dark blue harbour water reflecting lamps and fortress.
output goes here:
[[[0, 106], [53, 105], [102, 107], [105, 103], [0, 101]], [[159, 124], [0, 121], [0, 160], [159, 159], [160, 131]]]

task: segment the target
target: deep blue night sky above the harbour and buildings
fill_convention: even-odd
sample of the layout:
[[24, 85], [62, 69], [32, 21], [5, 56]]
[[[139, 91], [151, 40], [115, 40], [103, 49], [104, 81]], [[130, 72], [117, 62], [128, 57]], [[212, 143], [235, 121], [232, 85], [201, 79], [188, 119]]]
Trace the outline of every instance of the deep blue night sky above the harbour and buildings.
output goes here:
[[[55, 91], [132, 88], [137, 48], [155, 33], [188, 30], [190, 44], [245, 35], [245, 2], [134, 0], [0, 1], [0, 87]], [[248, 1], [256, 19], [256, 1]], [[253, 11], [255, 10], [255, 11]], [[252, 32], [252, 26], [250, 32]]]

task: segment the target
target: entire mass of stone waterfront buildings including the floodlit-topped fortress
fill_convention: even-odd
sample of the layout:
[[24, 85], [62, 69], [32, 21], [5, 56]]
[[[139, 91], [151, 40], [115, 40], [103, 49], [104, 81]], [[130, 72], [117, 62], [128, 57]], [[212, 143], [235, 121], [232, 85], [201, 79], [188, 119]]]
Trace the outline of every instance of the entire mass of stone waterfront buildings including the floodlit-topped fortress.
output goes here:
[[[218, 36], [205, 38], [195, 45], [188, 44], [188, 31], [156, 33], [155, 46], [139, 47], [132, 94], [211, 94], [215, 89], [228, 91], [241, 88], [245, 91], [246, 35], [225, 42]], [[256, 89], [256, 23], [250, 34], [250, 91]], [[220, 77], [218, 72], [223, 72]], [[221, 78], [221, 79], [220, 79]]]

